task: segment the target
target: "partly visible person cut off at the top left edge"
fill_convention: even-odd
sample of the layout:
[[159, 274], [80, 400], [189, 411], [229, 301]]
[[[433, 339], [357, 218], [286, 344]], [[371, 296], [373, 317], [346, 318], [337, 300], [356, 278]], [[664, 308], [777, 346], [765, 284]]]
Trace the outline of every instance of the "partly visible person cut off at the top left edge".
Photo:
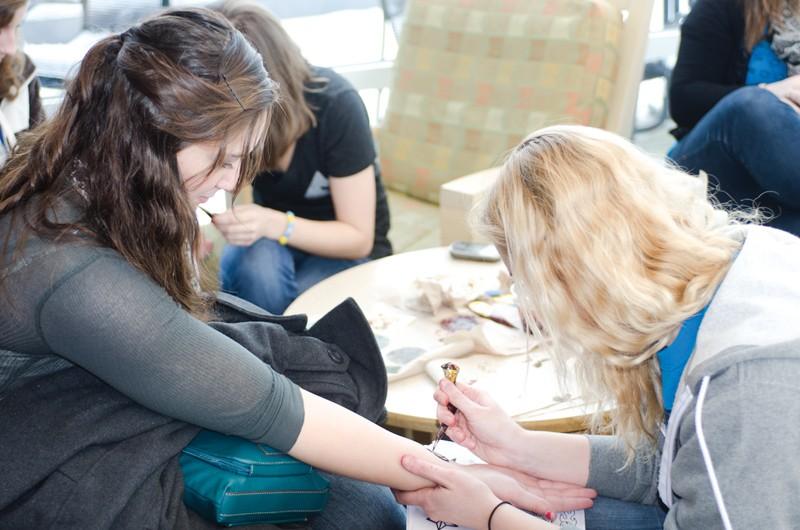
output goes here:
[[27, 5], [27, 0], [0, 1], [0, 165], [17, 133], [44, 119], [35, 67], [17, 45]]

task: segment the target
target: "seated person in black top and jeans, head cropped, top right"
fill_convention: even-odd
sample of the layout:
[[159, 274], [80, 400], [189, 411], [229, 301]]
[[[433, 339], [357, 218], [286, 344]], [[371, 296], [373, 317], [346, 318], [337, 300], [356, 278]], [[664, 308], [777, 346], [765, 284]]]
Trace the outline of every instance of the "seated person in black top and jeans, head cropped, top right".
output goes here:
[[681, 28], [669, 156], [800, 235], [800, 0], [699, 0]]

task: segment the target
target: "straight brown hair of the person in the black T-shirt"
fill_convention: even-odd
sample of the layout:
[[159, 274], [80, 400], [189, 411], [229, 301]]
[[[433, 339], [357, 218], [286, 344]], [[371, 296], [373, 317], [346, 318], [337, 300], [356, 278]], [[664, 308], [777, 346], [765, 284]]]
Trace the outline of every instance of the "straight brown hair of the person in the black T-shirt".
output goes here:
[[280, 21], [260, 5], [246, 0], [229, 0], [213, 8], [244, 33], [280, 87], [280, 107], [273, 116], [274, 125], [267, 132], [264, 151], [264, 167], [275, 169], [278, 159], [289, 146], [317, 125], [305, 92], [312, 81], [324, 83], [325, 79], [312, 76], [311, 66], [300, 53], [300, 48]]

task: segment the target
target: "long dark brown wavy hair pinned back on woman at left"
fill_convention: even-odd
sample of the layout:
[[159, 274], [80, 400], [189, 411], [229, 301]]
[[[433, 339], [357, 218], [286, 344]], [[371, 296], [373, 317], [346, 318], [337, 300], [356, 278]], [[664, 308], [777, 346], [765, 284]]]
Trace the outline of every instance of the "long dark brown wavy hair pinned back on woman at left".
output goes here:
[[[238, 190], [260, 162], [275, 90], [258, 53], [210, 10], [168, 11], [107, 37], [86, 54], [56, 115], [21, 138], [0, 172], [0, 215], [10, 212], [12, 225], [21, 216], [23, 240], [88, 235], [199, 313], [198, 225], [176, 153], [220, 142], [213, 171], [227, 139], [244, 131]], [[64, 198], [81, 215], [56, 223], [49, 213]]]

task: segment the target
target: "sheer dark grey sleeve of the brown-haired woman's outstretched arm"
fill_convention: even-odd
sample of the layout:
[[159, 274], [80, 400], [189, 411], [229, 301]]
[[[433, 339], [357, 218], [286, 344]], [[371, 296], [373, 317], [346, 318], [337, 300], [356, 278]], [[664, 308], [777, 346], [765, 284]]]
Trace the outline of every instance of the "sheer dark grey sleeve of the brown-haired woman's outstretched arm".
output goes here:
[[101, 257], [62, 280], [38, 320], [53, 352], [151, 410], [282, 451], [300, 433], [296, 385], [122, 258]]

